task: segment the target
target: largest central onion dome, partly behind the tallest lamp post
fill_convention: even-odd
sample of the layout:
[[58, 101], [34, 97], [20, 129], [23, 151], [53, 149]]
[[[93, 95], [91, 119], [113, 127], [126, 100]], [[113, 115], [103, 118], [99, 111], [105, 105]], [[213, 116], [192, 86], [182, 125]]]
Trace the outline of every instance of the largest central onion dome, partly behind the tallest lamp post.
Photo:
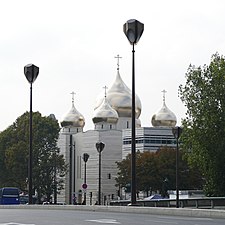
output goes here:
[[[119, 70], [117, 69], [116, 80], [109, 88], [107, 92], [107, 100], [109, 104], [115, 109], [119, 117], [131, 117], [132, 114], [132, 94], [131, 90], [123, 82]], [[95, 109], [97, 109], [103, 98], [100, 97], [96, 101]], [[135, 108], [136, 108], [136, 118], [139, 118], [141, 114], [141, 101], [139, 97], [135, 96]]]

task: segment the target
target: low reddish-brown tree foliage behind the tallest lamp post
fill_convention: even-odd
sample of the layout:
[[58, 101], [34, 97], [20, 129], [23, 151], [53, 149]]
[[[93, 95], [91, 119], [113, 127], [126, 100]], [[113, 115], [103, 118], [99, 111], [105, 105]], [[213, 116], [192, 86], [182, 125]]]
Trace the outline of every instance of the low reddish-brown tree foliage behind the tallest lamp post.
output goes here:
[[[176, 150], [162, 147], [157, 152], [137, 152], [136, 156], [137, 191], [144, 191], [147, 195], [160, 192], [165, 195], [166, 190], [176, 189]], [[189, 168], [187, 161], [179, 153], [179, 187], [180, 189], [198, 189], [202, 187], [201, 174], [195, 168]], [[118, 186], [126, 189], [131, 182], [131, 155], [127, 155], [121, 162], [117, 162], [119, 169]]]

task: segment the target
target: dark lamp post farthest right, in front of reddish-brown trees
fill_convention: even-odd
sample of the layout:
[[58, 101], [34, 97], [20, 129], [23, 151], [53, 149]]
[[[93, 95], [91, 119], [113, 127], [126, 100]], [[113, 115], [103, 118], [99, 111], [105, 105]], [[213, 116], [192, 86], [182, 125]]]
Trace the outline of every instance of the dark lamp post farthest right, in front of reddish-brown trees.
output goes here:
[[172, 132], [177, 142], [177, 146], [176, 146], [176, 207], [179, 208], [179, 143], [178, 141], [182, 132], [182, 128], [173, 127]]

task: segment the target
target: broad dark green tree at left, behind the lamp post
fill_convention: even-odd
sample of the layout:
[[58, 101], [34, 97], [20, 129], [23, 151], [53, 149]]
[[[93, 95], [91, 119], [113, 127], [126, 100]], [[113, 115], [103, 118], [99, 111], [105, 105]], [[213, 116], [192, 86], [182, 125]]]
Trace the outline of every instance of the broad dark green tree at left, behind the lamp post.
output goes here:
[[[33, 188], [50, 199], [54, 188], [62, 189], [67, 166], [57, 147], [58, 122], [33, 113]], [[26, 112], [0, 133], [0, 184], [27, 189], [29, 154], [29, 113]]]

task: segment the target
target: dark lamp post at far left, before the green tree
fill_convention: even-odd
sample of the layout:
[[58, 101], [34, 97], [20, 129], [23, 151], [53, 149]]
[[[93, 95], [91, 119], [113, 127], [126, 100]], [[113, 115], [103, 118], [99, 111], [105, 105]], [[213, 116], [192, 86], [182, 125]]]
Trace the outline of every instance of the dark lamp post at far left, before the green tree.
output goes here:
[[35, 66], [34, 64], [28, 64], [24, 67], [24, 74], [30, 83], [30, 148], [29, 148], [29, 161], [28, 161], [28, 184], [29, 184], [29, 204], [33, 203], [32, 195], [32, 161], [33, 161], [33, 154], [32, 154], [32, 142], [33, 142], [33, 133], [32, 133], [32, 84], [36, 80], [39, 73], [39, 67]]

